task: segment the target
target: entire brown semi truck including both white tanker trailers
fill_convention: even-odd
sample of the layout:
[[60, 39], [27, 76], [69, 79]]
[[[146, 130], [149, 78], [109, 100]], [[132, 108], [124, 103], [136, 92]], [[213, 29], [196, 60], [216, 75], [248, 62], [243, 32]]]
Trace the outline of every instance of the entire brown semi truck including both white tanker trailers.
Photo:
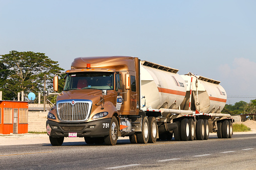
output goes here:
[[[219, 81], [136, 57], [80, 57], [65, 72], [65, 86], [50, 109], [46, 129], [52, 145], [64, 137], [115, 145], [232, 136], [232, 119], [222, 114], [226, 92]], [[54, 77], [58, 91], [58, 76]]]

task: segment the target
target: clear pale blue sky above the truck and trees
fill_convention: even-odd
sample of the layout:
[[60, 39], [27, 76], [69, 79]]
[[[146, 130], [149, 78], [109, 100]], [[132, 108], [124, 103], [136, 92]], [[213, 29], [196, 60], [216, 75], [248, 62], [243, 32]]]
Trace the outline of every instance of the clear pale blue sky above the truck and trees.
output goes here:
[[[221, 81], [227, 104], [256, 98], [255, 1], [0, 0], [0, 54], [134, 56]], [[253, 96], [254, 98], [233, 98]]]

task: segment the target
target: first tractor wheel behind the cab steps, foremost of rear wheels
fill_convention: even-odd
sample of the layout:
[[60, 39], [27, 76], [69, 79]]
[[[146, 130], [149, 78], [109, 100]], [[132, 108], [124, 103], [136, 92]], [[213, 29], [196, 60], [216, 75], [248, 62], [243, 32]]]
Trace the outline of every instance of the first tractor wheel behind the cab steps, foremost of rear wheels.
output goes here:
[[137, 132], [138, 143], [147, 143], [149, 138], [149, 124], [146, 116], [142, 117], [142, 129], [141, 132]]

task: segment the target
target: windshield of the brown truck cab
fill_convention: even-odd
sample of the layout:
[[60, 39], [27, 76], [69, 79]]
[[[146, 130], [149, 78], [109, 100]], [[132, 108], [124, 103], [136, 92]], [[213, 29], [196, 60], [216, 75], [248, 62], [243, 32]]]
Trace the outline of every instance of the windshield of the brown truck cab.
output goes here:
[[114, 73], [68, 73], [64, 91], [78, 89], [113, 90]]

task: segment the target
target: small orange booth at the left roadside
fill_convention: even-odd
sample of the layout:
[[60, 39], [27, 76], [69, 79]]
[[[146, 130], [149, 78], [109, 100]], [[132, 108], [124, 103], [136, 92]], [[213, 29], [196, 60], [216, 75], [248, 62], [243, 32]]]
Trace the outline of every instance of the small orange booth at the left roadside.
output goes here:
[[28, 133], [28, 102], [0, 100], [0, 134]]

